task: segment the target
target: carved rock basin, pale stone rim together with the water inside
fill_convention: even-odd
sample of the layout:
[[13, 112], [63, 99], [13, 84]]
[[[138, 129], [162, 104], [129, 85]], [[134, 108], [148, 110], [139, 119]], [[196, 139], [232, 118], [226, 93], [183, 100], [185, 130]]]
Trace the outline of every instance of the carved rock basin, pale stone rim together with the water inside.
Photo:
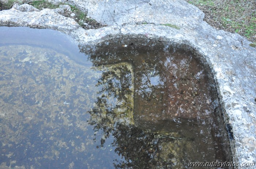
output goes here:
[[255, 44], [183, 0], [49, 1], [107, 25], [84, 30], [67, 5], [0, 11], [1, 26], [68, 35], [0, 32], [33, 42], [0, 46], [0, 168], [255, 167]]

